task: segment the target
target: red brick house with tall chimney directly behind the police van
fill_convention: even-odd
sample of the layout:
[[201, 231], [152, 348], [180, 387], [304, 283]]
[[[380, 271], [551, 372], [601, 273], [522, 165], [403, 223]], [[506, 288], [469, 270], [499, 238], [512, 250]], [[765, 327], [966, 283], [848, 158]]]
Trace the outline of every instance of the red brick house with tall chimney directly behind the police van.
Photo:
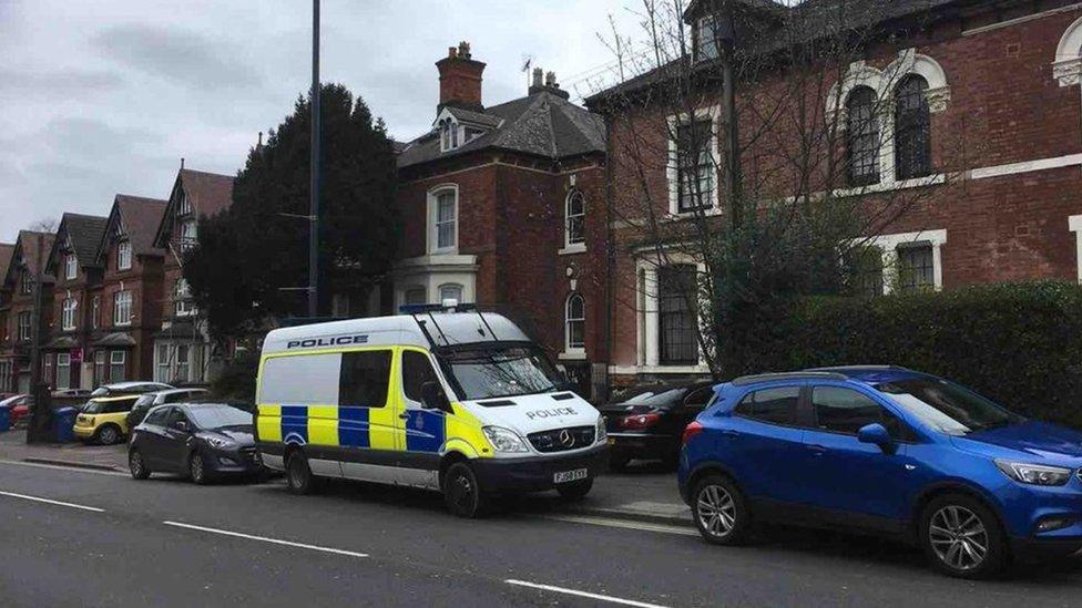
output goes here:
[[540, 70], [524, 96], [486, 105], [486, 64], [467, 43], [436, 65], [432, 130], [399, 154], [405, 238], [388, 299], [498, 305], [584, 391], [603, 384], [603, 122]]

